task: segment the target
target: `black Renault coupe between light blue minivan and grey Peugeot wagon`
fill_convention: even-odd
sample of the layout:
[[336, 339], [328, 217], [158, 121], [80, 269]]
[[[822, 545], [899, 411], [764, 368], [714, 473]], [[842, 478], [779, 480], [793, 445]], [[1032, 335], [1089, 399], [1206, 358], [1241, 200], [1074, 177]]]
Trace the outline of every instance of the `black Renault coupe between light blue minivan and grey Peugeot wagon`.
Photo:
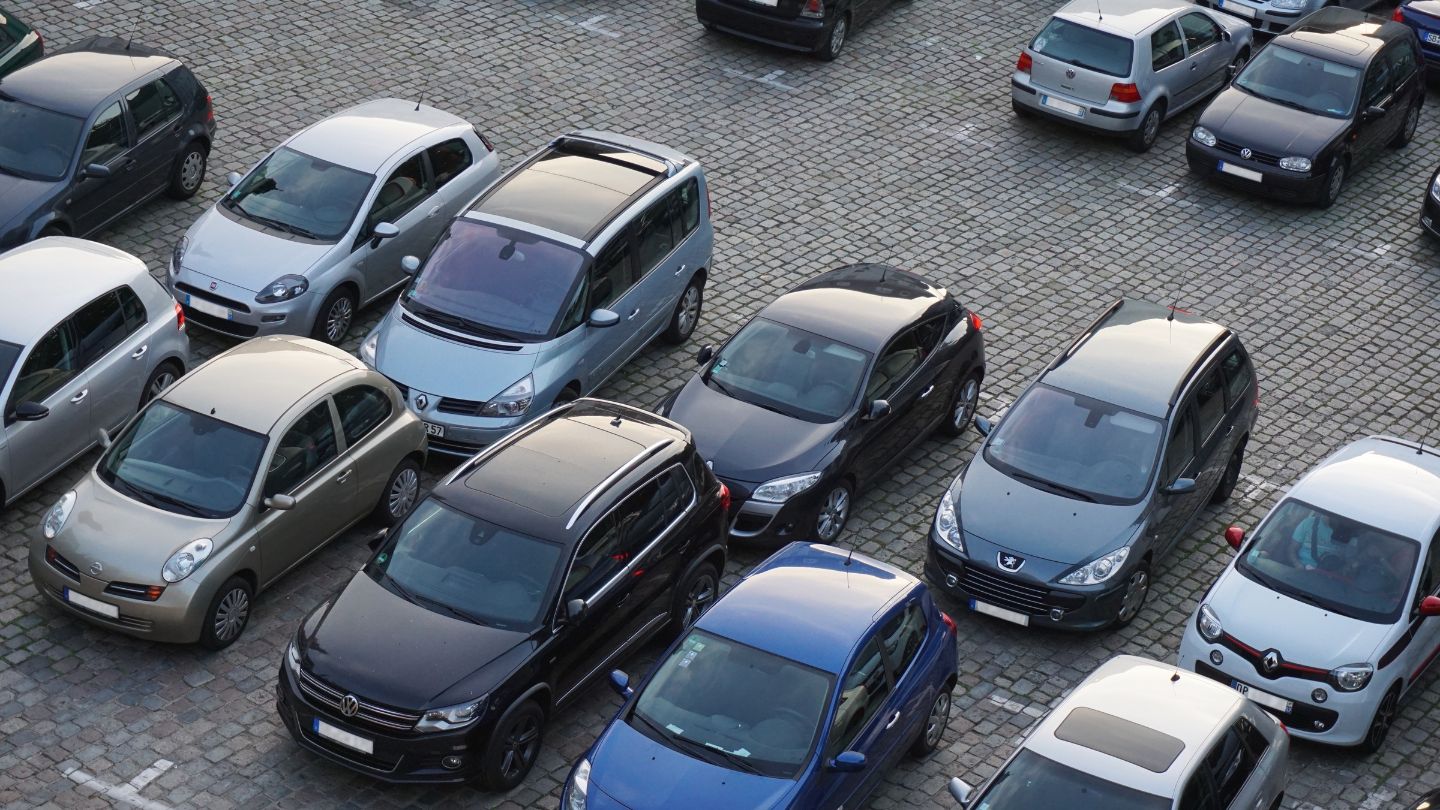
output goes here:
[[829, 543], [886, 467], [969, 427], [985, 339], [943, 287], [855, 264], [785, 293], [700, 363], [660, 412], [730, 487], [732, 538]]

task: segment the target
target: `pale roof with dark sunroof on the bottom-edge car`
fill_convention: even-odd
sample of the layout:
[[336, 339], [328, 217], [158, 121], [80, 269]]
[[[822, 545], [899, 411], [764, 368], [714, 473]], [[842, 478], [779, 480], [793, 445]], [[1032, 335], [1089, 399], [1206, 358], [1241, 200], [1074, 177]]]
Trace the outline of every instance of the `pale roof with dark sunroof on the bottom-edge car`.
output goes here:
[[1230, 725], [1243, 700], [1192, 672], [1116, 656], [1056, 706], [1024, 747], [1109, 781], [1175, 797], [1189, 764]]

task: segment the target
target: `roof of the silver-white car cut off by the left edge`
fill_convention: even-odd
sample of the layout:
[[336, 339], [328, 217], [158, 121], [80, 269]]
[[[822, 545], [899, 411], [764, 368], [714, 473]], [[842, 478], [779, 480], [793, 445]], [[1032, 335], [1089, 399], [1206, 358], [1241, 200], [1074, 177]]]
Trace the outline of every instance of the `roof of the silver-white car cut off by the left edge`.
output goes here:
[[147, 275], [138, 258], [71, 236], [46, 236], [3, 252], [0, 340], [33, 343], [102, 293]]

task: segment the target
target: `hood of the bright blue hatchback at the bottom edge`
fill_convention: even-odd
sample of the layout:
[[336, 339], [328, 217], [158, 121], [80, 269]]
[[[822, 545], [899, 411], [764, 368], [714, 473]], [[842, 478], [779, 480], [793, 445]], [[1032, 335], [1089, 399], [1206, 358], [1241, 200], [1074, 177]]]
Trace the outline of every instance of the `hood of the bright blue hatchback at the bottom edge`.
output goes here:
[[590, 790], [596, 788], [631, 810], [768, 810], [785, 807], [795, 783], [703, 762], [616, 718], [590, 754]]

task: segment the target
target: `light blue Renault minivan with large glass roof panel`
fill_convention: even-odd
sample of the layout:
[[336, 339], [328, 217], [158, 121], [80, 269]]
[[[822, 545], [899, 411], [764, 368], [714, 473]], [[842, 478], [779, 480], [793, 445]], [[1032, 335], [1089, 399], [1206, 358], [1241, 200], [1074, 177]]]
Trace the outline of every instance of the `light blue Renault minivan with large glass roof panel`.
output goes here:
[[[700, 321], [714, 236], [704, 170], [668, 147], [556, 138], [449, 222], [360, 359], [431, 448], [471, 455]], [[418, 270], [415, 270], [418, 268]]]

